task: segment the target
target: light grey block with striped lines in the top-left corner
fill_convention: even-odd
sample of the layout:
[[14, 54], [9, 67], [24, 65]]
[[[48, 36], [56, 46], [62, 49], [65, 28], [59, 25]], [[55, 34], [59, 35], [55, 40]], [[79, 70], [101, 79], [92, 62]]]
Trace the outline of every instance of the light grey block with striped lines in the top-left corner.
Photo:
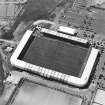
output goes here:
[[0, 0], [0, 25], [12, 25], [27, 0]]

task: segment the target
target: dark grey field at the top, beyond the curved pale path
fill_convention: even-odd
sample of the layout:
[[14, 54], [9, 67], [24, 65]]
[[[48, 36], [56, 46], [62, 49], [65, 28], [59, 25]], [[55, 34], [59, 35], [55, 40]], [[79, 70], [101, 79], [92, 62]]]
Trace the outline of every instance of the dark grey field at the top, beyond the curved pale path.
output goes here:
[[21, 18], [23, 21], [46, 19], [49, 17], [49, 11], [56, 5], [55, 0], [29, 0]]

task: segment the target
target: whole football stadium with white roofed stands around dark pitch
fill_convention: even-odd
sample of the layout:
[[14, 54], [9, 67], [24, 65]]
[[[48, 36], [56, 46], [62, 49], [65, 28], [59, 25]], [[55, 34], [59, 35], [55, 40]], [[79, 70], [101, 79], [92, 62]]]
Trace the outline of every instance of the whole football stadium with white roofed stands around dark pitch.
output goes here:
[[51, 29], [27, 30], [11, 57], [11, 64], [25, 71], [84, 86], [94, 68], [99, 50], [86, 39]]

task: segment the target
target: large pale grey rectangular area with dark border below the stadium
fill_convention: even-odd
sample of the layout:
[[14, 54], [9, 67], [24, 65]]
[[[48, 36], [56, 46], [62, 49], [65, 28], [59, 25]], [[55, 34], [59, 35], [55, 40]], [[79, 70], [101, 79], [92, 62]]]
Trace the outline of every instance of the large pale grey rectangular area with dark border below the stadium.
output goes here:
[[12, 96], [8, 101], [8, 105], [70, 105], [70, 103], [81, 105], [82, 103], [80, 97], [51, 89], [27, 79], [19, 82]]

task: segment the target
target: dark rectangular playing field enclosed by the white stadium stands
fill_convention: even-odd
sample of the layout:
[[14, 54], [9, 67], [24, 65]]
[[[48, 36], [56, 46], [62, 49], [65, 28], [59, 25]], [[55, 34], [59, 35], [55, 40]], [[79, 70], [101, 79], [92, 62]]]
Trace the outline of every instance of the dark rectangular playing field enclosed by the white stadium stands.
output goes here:
[[35, 38], [22, 60], [68, 75], [79, 76], [88, 49], [52, 38]]

